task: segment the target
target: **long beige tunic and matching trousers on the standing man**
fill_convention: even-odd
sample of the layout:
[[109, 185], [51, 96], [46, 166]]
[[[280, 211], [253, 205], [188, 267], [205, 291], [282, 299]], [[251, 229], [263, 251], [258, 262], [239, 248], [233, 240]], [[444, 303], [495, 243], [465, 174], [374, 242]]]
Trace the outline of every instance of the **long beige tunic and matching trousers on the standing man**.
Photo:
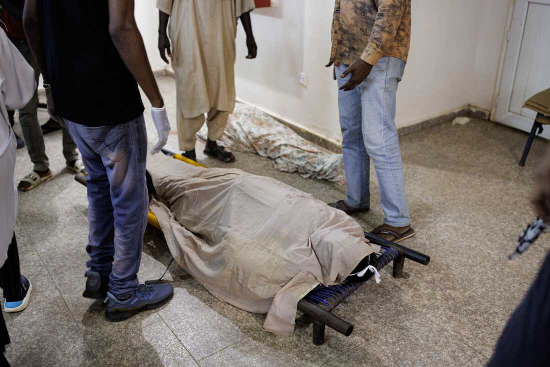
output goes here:
[[157, 8], [170, 15], [179, 147], [191, 150], [205, 113], [209, 138], [223, 135], [235, 106], [237, 19], [255, 4], [254, 0], [157, 0]]

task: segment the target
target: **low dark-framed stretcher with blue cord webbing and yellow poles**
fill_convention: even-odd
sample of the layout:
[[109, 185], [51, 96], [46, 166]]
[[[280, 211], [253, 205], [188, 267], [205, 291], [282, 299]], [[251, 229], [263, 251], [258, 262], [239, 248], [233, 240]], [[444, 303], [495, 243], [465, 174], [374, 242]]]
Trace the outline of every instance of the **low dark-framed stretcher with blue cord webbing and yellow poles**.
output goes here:
[[[190, 165], [206, 168], [205, 165], [202, 165], [199, 162], [190, 160], [189, 158], [176, 154], [167, 149], [163, 149], [162, 152], [166, 155], [172, 156], [174, 159], [189, 163]], [[86, 185], [86, 178], [81, 174], [77, 174], [75, 176], [75, 180], [83, 185]], [[149, 212], [147, 222], [152, 227], [161, 229], [157, 217], [152, 212]], [[381, 247], [380, 253], [377, 254], [375, 265], [376, 269], [380, 271], [383, 267], [389, 265], [390, 262], [393, 262], [394, 278], [401, 278], [401, 276], [403, 276], [405, 259], [418, 262], [422, 265], [428, 265], [430, 262], [430, 256], [421, 254], [403, 245], [387, 241], [368, 232], [365, 232], [365, 237], [370, 240], [371, 243], [377, 244]], [[345, 336], [351, 335], [353, 332], [353, 325], [332, 314], [332, 311], [363, 284], [365, 284], [371, 276], [372, 273], [367, 272], [361, 282], [343, 283], [330, 287], [317, 286], [298, 302], [298, 310], [300, 310], [304, 315], [310, 317], [312, 320], [313, 344], [320, 346], [324, 343], [326, 326], [333, 328], [335, 331], [338, 331]]]

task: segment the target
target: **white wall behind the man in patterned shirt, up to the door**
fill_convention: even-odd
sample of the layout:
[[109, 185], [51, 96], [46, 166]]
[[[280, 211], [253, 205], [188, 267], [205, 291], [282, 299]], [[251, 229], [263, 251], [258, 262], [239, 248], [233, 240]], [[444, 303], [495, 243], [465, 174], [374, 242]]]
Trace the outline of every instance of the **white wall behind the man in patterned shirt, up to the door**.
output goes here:
[[[330, 52], [333, 0], [282, 0], [252, 13], [259, 57], [246, 60], [239, 29], [237, 95], [339, 139]], [[398, 91], [399, 127], [467, 104], [490, 109], [508, 0], [414, 0], [409, 61]], [[298, 83], [298, 74], [308, 85]]]

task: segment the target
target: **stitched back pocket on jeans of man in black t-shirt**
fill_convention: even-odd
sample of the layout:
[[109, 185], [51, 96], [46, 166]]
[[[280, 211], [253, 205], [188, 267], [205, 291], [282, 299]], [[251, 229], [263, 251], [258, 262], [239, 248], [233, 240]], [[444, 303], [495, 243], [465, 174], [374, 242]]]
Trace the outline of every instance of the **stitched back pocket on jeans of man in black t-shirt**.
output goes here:
[[133, 143], [128, 124], [85, 127], [87, 143], [101, 156], [120, 162], [132, 150]]

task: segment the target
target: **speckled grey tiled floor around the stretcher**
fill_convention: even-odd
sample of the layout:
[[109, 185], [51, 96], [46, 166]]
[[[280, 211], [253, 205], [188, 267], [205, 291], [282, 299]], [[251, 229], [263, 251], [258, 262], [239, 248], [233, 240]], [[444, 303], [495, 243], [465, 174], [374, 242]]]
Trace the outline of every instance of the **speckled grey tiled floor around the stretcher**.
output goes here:
[[[160, 81], [175, 132], [173, 80]], [[541, 238], [515, 262], [507, 260], [532, 220], [532, 177], [547, 147], [536, 140], [520, 168], [525, 140], [524, 133], [480, 120], [404, 136], [417, 232], [407, 245], [431, 255], [431, 264], [405, 262], [400, 280], [384, 270], [379, 286], [369, 283], [336, 311], [353, 322], [353, 335], [327, 329], [327, 342], [315, 347], [311, 325], [298, 325], [287, 338], [267, 333], [263, 316], [220, 302], [175, 264], [166, 276], [175, 288], [171, 302], [125, 322], [107, 322], [101, 302], [81, 297], [85, 188], [63, 169], [61, 134], [47, 135], [56, 177], [19, 195], [21, 267], [34, 292], [23, 313], [5, 315], [12, 337], [7, 357], [14, 366], [481, 366], [550, 248], [548, 238]], [[175, 133], [169, 147], [177, 149]], [[32, 166], [25, 150], [17, 157], [20, 179]], [[201, 154], [199, 159], [219, 166]], [[238, 153], [234, 166], [325, 201], [345, 193], [344, 187], [277, 172], [270, 161], [250, 154]], [[375, 177], [371, 188], [372, 210], [357, 218], [365, 229], [383, 218]], [[140, 279], [160, 276], [170, 259], [162, 235], [147, 229]]]

